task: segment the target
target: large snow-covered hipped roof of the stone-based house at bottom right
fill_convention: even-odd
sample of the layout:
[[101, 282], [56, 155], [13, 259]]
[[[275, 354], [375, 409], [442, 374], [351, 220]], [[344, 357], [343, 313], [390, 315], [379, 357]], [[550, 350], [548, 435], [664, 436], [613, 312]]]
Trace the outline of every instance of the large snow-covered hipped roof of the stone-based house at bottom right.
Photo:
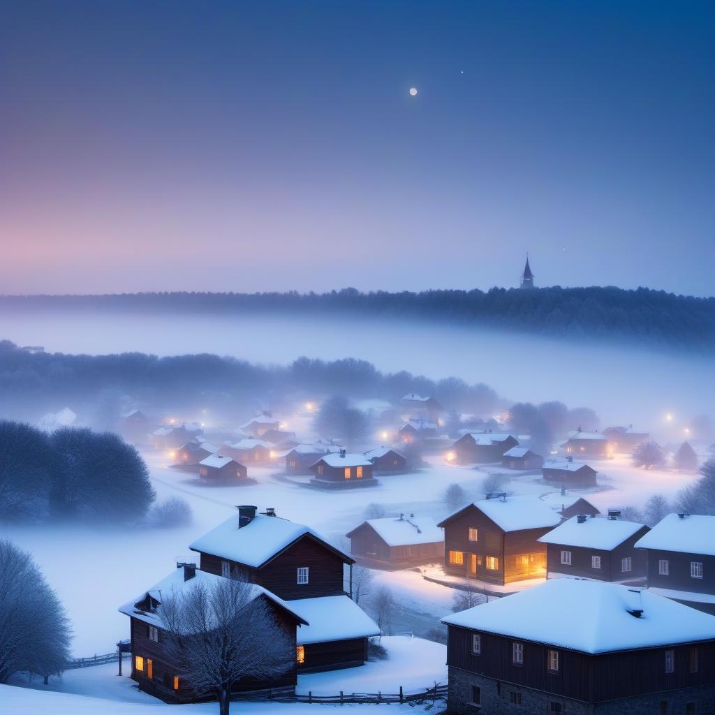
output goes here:
[[649, 591], [575, 578], [553, 578], [442, 620], [590, 654], [715, 638], [715, 616]]

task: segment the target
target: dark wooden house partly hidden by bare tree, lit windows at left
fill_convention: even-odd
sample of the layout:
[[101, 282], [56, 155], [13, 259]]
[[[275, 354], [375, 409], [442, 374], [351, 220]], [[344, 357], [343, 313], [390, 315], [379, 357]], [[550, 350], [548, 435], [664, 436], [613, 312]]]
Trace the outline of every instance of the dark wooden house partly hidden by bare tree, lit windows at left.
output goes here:
[[[162, 618], [162, 601], [169, 596], [180, 597], [192, 588], [212, 588], [220, 576], [207, 571], [198, 571], [194, 564], [180, 564], [172, 573], [159, 583], [144, 591], [137, 598], [119, 608], [129, 616], [129, 632], [132, 648], [132, 679], [139, 684], [139, 689], [146, 691], [169, 703], [189, 703], [207, 699], [199, 694], [192, 684], [182, 675], [181, 666], [174, 661], [171, 634]], [[252, 586], [254, 598], [264, 599], [275, 617], [277, 628], [285, 631], [295, 644], [296, 653], [300, 653], [296, 641], [296, 628], [305, 624], [302, 614], [294, 610], [289, 603], [277, 598], [270, 591], [259, 586]], [[286, 664], [285, 673], [267, 679], [245, 679], [234, 684], [235, 694], [247, 692], [284, 692], [295, 691], [297, 682], [298, 658]]]

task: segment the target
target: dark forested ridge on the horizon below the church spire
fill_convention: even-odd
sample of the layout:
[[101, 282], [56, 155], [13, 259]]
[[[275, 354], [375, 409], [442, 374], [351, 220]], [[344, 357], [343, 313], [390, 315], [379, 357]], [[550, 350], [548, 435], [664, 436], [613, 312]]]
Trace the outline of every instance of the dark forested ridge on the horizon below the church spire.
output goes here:
[[715, 345], [715, 298], [613, 286], [399, 293], [344, 288], [324, 293], [164, 292], [123, 295], [5, 296], [0, 307], [172, 312], [355, 312], [432, 318], [576, 339], [604, 337], [654, 346]]

